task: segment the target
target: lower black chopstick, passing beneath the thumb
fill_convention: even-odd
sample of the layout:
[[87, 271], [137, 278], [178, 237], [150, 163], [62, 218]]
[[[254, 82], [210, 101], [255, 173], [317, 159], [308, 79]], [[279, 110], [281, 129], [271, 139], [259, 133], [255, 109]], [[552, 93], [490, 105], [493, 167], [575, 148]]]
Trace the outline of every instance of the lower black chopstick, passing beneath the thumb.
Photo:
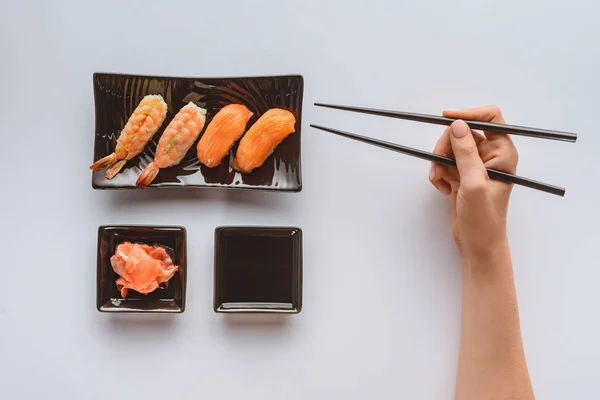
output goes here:
[[[326, 128], [324, 126], [319, 125], [310, 125], [313, 128], [320, 129], [325, 132], [330, 132], [339, 136], [343, 136], [349, 139], [358, 140], [359, 142], [368, 143], [373, 146], [383, 147], [387, 150], [397, 151], [398, 153], [407, 154], [409, 156], [421, 158], [427, 161], [433, 161], [440, 164], [451, 165], [456, 167], [456, 160], [450, 157], [444, 157], [437, 154], [429, 153], [423, 150], [413, 149], [412, 147], [400, 146], [395, 143], [384, 142], [382, 140], [377, 140], [373, 138], [369, 138], [366, 136], [355, 135], [354, 133], [344, 132], [337, 129]], [[495, 179], [498, 181], [510, 182], [516, 185], [525, 186], [531, 189], [540, 190], [542, 192], [551, 193], [557, 196], [563, 197], [565, 195], [565, 189], [553, 186], [547, 183], [534, 181], [533, 179], [523, 178], [517, 175], [512, 175], [506, 172], [498, 171], [496, 169], [486, 168], [488, 176], [491, 179]]]

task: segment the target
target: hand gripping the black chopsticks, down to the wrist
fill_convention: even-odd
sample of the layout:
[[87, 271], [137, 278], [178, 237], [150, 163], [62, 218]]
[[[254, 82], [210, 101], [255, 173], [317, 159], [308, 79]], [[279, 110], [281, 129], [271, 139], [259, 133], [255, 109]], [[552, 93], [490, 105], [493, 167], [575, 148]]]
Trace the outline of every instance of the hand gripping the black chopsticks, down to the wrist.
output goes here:
[[508, 247], [506, 214], [512, 184], [491, 180], [485, 168], [515, 174], [517, 149], [508, 135], [472, 132], [462, 121], [504, 123], [496, 106], [446, 110], [443, 115], [461, 120], [446, 128], [434, 153], [455, 158], [457, 168], [432, 163], [429, 180], [452, 198], [452, 233], [463, 264], [493, 257]]

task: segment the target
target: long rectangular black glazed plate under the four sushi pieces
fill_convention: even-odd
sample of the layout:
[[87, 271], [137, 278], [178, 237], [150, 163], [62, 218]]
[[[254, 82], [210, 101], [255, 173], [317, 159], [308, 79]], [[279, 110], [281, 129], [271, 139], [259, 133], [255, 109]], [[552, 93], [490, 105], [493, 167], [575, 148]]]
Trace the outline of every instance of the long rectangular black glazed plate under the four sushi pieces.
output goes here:
[[167, 103], [168, 113], [161, 129], [138, 156], [129, 160], [112, 180], [105, 178], [105, 171], [93, 172], [92, 186], [95, 189], [136, 188], [139, 174], [154, 160], [156, 145], [164, 129], [181, 107], [193, 101], [208, 111], [205, 127], [221, 108], [239, 103], [254, 113], [246, 129], [269, 108], [278, 107], [294, 114], [296, 131], [277, 146], [262, 167], [251, 174], [240, 174], [230, 166], [237, 143], [221, 165], [208, 168], [198, 161], [196, 142], [179, 165], [162, 169], [150, 187], [226, 187], [299, 192], [302, 189], [300, 132], [303, 90], [304, 80], [300, 75], [173, 78], [95, 73], [94, 162], [114, 151], [121, 130], [144, 96], [160, 94]]

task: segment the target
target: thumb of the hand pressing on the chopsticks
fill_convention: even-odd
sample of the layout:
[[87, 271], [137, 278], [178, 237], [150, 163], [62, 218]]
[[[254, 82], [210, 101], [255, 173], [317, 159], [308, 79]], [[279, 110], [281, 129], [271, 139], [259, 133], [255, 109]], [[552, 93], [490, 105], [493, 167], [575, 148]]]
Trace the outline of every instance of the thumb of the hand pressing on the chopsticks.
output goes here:
[[469, 125], [465, 121], [457, 120], [450, 125], [450, 129], [450, 144], [456, 157], [460, 185], [464, 188], [485, 184], [488, 179], [487, 171], [479, 157], [479, 150]]

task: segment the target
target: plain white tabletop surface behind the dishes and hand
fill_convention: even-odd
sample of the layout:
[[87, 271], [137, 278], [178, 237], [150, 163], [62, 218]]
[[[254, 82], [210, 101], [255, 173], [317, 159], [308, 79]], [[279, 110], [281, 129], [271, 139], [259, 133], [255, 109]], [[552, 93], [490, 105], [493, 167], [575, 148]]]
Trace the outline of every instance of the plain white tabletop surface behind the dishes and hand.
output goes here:
[[[595, 0], [12, 1], [0, 6], [0, 398], [451, 399], [460, 267], [429, 164], [308, 127], [430, 150], [442, 128], [315, 101], [439, 113], [498, 104], [516, 138], [510, 239], [540, 399], [599, 398], [600, 6]], [[94, 191], [95, 71], [300, 73], [304, 188]], [[188, 229], [182, 315], [95, 308], [101, 224]], [[304, 231], [304, 309], [212, 311], [218, 225]]]

